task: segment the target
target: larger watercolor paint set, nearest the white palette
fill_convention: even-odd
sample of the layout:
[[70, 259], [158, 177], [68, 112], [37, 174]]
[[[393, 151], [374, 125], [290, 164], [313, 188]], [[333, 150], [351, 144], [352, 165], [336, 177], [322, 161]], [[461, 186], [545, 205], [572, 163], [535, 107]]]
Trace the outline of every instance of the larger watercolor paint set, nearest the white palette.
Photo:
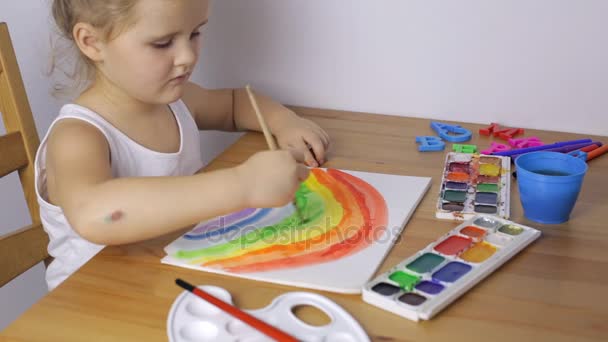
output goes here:
[[540, 235], [478, 215], [366, 284], [363, 300], [413, 321], [431, 319]]

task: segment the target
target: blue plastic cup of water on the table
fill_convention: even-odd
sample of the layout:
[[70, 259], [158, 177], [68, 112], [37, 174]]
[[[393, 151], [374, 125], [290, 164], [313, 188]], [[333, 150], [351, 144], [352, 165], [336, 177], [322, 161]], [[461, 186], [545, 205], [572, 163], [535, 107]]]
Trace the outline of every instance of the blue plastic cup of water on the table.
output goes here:
[[558, 224], [568, 221], [583, 184], [587, 163], [558, 152], [531, 152], [515, 159], [524, 216]]

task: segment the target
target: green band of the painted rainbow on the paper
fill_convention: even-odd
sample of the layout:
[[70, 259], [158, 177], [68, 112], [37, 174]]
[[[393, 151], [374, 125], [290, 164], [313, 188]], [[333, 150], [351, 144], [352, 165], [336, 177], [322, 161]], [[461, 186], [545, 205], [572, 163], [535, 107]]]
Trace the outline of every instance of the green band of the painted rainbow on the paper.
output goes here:
[[[248, 232], [234, 240], [221, 245], [210, 246], [190, 251], [178, 251], [175, 257], [180, 259], [195, 259], [208, 256], [230, 255], [236, 251], [256, 246], [264, 246], [268, 242], [289, 244], [294, 242], [294, 237], [304, 229], [316, 226], [329, 230], [332, 227], [323, 227], [322, 219], [325, 215], [325, 202], [316, 192], [311, 191], [304, 183], [296, 192], [296, 205], [300, 208], [302, 220], [297, 213], [285, 217], [277, 224], [266, 226]], [[316, 225], [315, 225], [316, 224]]]

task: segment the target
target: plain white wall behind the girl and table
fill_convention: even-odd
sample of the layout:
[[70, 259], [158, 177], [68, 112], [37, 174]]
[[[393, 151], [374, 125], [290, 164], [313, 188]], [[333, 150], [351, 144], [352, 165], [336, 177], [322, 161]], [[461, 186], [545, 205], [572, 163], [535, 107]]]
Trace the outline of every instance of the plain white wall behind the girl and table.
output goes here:
[[[61, 104], [43, 73], [49, 2], [0, 2], [41, 136]], [[606, 13], [605, 0], [221, 0], [194, 80], [251, 82], [297, 105], [606, 135]], [[202, 135], [206, 160], [233, 139]], [[0, 180], [0, 234], [28, 223], [19, 193], [15, 175]], [[44, 288], [41, 266], [1, 288], [0, 330]]]

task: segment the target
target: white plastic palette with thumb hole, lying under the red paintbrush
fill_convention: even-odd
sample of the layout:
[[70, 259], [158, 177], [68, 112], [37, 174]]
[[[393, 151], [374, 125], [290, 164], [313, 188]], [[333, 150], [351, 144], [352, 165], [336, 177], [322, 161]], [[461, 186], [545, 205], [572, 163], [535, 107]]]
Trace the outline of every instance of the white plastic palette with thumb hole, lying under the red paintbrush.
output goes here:
[[[199, 288], [233, 305], [232, 296], [225, 289], [216, 286]], [[310, 305], [323, 311], [331, 322], [325, 326], [306, 324], [292, 313], [292, 309], [300, 305]], [[301, 341], [369, 341], [363, 328], [348, 312], [328, 298], [315, 293], [289, 292], [276, 297], [265, 308], [243, 311]], [[272, 341], [256, 329], [188, 291], [180, 294], [171, 306], [167, 319], [167, 334], [170, 342]]]

